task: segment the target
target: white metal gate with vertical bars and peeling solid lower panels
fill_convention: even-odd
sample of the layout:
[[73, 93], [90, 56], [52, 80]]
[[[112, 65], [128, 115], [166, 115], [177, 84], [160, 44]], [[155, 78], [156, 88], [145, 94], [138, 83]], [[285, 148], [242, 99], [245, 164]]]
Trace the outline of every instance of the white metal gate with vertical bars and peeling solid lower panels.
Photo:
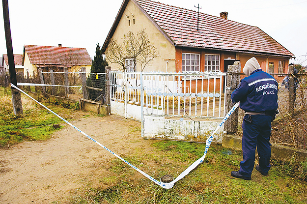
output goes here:
[[[140, 120], [143, 138], [203, 142], [226, 114], [225, 78], [222, 72], [112, 71], [111, 113]], [[221, 134], [215, 138], [221, 142]]]

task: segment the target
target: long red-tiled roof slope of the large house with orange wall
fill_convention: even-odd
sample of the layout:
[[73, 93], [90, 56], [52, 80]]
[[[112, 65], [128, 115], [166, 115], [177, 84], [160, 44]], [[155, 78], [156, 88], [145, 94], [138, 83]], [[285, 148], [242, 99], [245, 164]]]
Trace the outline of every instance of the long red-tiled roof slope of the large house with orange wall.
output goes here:
[[293, 54], [258, 27], [151, 0], [135, 0], [176, 46], [255, 52], [292, 57]]

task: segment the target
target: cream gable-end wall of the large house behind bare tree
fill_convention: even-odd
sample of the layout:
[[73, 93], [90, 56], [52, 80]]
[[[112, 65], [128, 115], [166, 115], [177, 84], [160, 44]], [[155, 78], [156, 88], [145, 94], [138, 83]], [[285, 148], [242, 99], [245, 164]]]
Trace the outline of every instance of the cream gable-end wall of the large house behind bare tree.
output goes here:
[[[127, 18], [127, 16], [129, 18]], [[135, 21], [135, 24], [133, 23], [133, 20]], [[160, 53], [160, 57], [155, 58], [153, 63], [147, 65], [143, 71], [175, 72], [175, 47], [132, 1], [128, 2], [112, 39], [116, 39], [118, 44], [122, 44], [124, 35], [129, 31], [137, 34], [141, 29], [145, 29], [150, 43], [152, 43]], [[112, 67], [112, 70], [121, 69], [120, 65], [116, 63], [111, 63], [109, 61], [108, 63]], [[137, 71], [140, 71], [140, 64], [138, 64], [138, 62], [136, 67]]]

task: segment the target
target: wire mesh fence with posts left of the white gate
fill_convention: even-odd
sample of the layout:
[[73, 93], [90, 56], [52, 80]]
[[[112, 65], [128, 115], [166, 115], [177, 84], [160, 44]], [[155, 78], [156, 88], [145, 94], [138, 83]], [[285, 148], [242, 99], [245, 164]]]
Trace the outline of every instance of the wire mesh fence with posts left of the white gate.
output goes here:
[[[31, 92], [47, 93], [74, 100], [84, 98], [84, 91], [86, 91], [88, 100], [101, 102], [101, 104], [106, 101], [105, 73], [40, 72], [39, 74], [41, 75], [26, 78], [24, 74], [17, 73], [17, 83], [27, 83], [19, 87]], [[82, 75], [85, 78], [84, 84]], [[10, 83], [9, 76], [1, 75], [1, 86], [4, 87], [5, 83]]]

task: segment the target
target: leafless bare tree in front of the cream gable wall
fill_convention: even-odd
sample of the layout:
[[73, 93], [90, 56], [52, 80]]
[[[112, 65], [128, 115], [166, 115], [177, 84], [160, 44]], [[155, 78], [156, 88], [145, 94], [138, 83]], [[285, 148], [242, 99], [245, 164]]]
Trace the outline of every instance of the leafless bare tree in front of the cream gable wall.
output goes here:
[[140, 70], [143, 71], [145, 66], [157, 57], [159, 57], [159, 52], [154, 45], [150, 44], [145, 29], [138, 31], [136, 35], [129, 31], [124, 35], [122, 44], [112, 39], [106, 52], [107, 60], [119, 64], [123, 71], [126, 69], [126, 59], [133, 60], [134, 71], [136, 71], [137, 62], [140, 63]]

